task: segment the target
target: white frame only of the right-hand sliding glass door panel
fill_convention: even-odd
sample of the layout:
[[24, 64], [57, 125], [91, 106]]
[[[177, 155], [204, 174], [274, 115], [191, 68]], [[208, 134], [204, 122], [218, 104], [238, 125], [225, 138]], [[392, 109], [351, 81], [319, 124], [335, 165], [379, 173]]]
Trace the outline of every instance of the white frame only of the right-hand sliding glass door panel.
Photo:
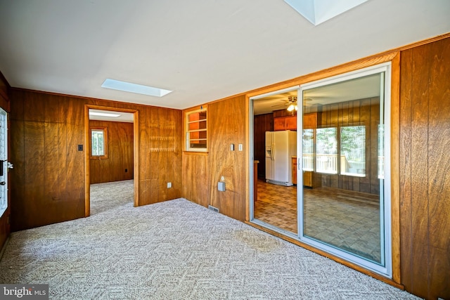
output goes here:
[[[303, 228], [303, 176], [302, 176], [302, 152], [303, 152], [303, 145], [302, 145], [302, 133], [303, 133], [303, 118], [298, 116], [303, 116], [303, 105], [299, 105], [299, 110], [297, 112], [297, 230], [298, 230], [298, 237], [297, 239], [300, 240], [300, 242], [304, 242], [304, 244], [309, 244], [310, 246], [321, 249], [325, 252], [328, 252], [330, 254], [333, 254], [334, 256], [338, 256], [341, 259], [345, 259], [346, 261], [349, 261], [351, 263], [355, 263], [356, 265], [359, 265], [363, 268], [366, 268], [368, 270], [372, 270], [375, 273], [378, 273], [380, 275], [383, 275], [387, 278], [392, 278], [392, 233], [391, 233], [391, 178], [390, 178], [390, 94], [391, 94], [391, 63], [382, 63], [379, 65], [374, 65], [372, 67], [366, 67], [364, 69], [347, 72], [344, 74], [339, 74], [333, 77], [328, 77], [326, 79], [320, 79], [317, 81], [311, 81], [306, 84], [301, 84], [300, 89], [298, 89], [298, 101], [300, 101], [300, 98], [303, 99], [303, 91], [307, 89], [313, 89], [318, 86], [326, 86], [328, 84], [335, 84], [341, 81], [347, 81], [349, 79], [356, 79], [359, 77], [368, 76], [371, 74], [378, 74], [383, 73], [385, 76], [382, 78], [384, 79], [384, 86], [383, 86], [383, 93], [380, 94], [380, 98], [384, 95], [384, 104], [381, 104], [383, 101], [380, 99], [380, 113], [384, 115], [384, 124], [385, 124], [385, 136], [384, 136], [384, 143], [385, 143], [385, 178], [384, 178], [384, 189], [383, 189], [383, 211], [381, 211], [380, 206], [380, 214], [383, 214], [383, 232], [380, 232], [380, 236], [384, 235], [384, 240], [381, 240], [381, 246], [384, 246], [384, 249], [381, 249], [384, 258], [385, 258], [385, 264], [384, 266], [373, 263], [371, 261], [368, 261], [366, 259], [362, 259], [359, 256], [349, 254], [349, 252], [342, 251], [340, 249], [337, 249], [335, 247], [330, 247], [328, 244], [325, 244], [323, 242], [318, 242], [316, 240], [313, 240], [307, 236], [304, 236], [304, 228]], [[381, 218], [381, 216], [380, 216]], [[383, 255], [382, 254], [382, 255]]]

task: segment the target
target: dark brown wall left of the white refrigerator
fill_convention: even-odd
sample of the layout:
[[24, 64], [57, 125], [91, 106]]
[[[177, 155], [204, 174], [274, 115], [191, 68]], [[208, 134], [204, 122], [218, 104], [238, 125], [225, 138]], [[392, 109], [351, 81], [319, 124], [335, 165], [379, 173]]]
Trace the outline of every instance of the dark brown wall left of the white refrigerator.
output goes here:
[[258, 177], [266, 178], [266, 131], [274, 131], [274, 114], [257, 115], [253, 118], [253, 155], [259, 160]]

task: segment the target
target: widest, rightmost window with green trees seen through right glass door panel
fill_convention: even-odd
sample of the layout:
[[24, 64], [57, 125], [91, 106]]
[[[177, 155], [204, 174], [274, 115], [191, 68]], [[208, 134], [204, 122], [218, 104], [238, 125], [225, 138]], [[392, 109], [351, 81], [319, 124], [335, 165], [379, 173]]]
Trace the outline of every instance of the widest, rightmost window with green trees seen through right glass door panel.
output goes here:
[[340, 173], [366, 175], [366, 126], [341, 127]]

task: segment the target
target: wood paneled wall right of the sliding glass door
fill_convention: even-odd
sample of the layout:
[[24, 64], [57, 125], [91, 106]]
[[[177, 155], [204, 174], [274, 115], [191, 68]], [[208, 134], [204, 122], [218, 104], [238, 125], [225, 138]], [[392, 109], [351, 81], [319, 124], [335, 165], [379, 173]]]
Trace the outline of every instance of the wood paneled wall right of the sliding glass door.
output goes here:
[[401, 283], [450, 299], [450, 39], [401, 52]]

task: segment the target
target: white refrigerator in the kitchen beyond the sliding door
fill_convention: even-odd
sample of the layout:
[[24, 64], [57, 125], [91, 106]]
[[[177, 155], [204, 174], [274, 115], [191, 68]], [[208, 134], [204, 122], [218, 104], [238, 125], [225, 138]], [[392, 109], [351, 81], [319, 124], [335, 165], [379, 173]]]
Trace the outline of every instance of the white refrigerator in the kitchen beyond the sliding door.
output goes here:
[[292, 157], [296, 155], [296, 131], [266, 131], [266, 182], [293, 185]]

